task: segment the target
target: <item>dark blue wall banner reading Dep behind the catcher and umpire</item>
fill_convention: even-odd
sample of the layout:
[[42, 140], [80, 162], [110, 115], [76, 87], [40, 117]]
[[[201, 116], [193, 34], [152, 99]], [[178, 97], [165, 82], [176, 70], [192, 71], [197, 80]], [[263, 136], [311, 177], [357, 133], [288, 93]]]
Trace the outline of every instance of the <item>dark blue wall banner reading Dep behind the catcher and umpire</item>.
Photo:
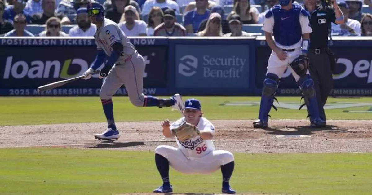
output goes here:
[[[336, 55], [337, 65], [333, 73], [334, 89], [330, 95], [372, 95], [372, 48], [333, 47], [331, 51]], [[257, 88], [262, 88], [270, 53], [268, 47], [257, 48]], [[297, 89], [291, 71], [287, 69], [280, 80], [278, 92], [283, 95], [295, 95], [300, 93]]]

